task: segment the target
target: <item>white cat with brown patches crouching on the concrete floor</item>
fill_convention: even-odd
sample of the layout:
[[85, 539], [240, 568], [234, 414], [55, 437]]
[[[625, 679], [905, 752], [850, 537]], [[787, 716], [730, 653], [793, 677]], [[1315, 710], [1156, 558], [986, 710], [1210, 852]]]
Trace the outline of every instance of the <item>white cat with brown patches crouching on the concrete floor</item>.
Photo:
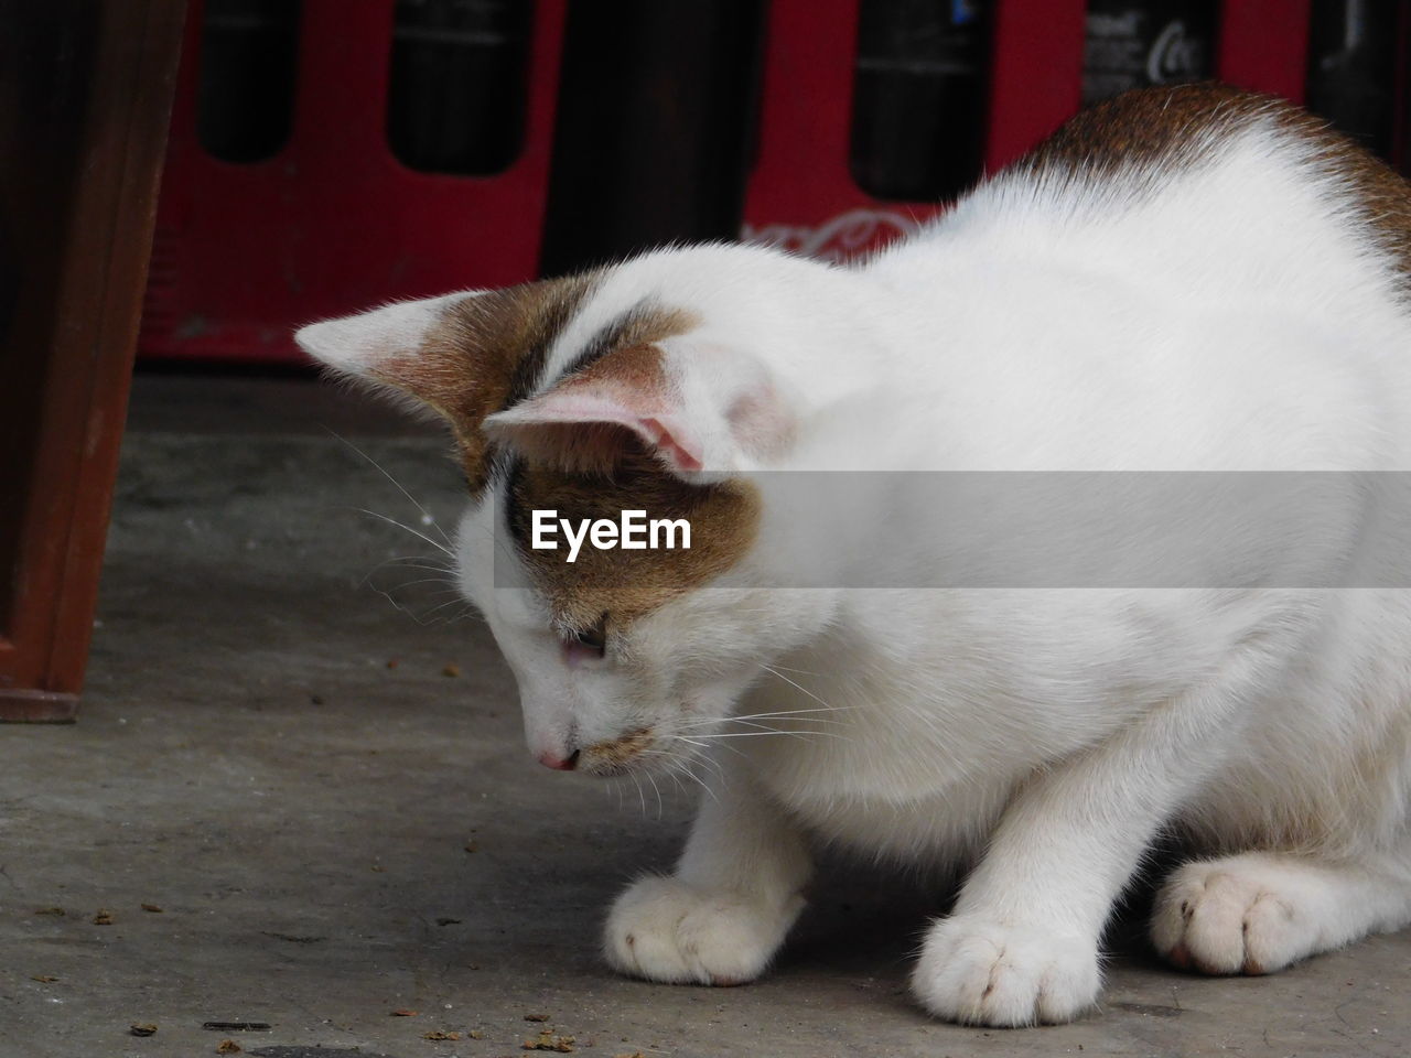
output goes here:
[[[1150, 923], [1177, 966], [1267, 973], [1411, 921], [1411, 554], [1301, 587], [1343, 583], [1371, 521], [1339, 487], [1236, 529], [1218, 583], [906, 587], [868, 537], [906, 495], [780, 511], [770, 474], [1411, 470], [1408, 282], [1397, 175], [1290, 104], [1185, 85], [1084, 111], [852, 267], [674, 247], [298, 340], [450, 425], [460, 584], [532, 755], [708, 787], [674, 870], [611, 908], [612, 966], [759, 976], [831, 844], [972, 865], [913, 992], [1026, 1026], [1094, 1006], [1103, 925], [1168, 834], [1197, 855]], [[532, 546], [535, 511], [628, 508], [691, 547]], [[944, 547], [947, 522], [897, 539]]]

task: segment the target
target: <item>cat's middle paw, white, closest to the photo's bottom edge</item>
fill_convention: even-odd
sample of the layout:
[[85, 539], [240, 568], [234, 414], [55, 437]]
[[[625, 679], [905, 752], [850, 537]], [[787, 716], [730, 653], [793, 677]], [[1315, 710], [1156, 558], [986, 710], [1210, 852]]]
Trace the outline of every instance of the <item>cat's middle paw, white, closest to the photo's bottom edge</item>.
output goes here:
[[968, 914], [931, 927], [912, 975], [937, 1017], [999, 1027], [1071, 1021], [1101, 985], [1092, 938]]

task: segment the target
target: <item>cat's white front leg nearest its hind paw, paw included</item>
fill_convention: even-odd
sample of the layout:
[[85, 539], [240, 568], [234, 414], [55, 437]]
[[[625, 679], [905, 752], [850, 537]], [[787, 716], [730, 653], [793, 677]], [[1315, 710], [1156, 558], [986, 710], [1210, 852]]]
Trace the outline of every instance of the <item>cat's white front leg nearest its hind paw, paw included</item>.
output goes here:
[[1026, 783], [912, 986], [951, 1021], [1070, 1021], [1098, 997], [1098, 942], [1156, 829], [1218, 755], [1209, 703], [1168, 704]]

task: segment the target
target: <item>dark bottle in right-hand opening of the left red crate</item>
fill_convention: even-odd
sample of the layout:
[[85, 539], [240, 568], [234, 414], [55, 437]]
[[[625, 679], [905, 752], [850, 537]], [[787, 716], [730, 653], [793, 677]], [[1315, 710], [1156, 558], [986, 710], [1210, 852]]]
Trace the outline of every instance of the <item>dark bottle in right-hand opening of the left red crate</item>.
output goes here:
[[488, 176], [523, 142], [532, 0], [396, 0], [387, 138], [412, 169]]

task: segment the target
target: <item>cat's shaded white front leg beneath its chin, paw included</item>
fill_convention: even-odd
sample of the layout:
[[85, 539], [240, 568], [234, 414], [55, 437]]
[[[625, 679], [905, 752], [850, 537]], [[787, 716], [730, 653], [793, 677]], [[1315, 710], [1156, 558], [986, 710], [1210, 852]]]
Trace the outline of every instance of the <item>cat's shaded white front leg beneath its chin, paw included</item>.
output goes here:
[[608, 962], [649, 980], [758, 978], [803, 910], [803, 835], [744, 772], [707, 797], [670, 876], [628, 886], [608, 914]]

